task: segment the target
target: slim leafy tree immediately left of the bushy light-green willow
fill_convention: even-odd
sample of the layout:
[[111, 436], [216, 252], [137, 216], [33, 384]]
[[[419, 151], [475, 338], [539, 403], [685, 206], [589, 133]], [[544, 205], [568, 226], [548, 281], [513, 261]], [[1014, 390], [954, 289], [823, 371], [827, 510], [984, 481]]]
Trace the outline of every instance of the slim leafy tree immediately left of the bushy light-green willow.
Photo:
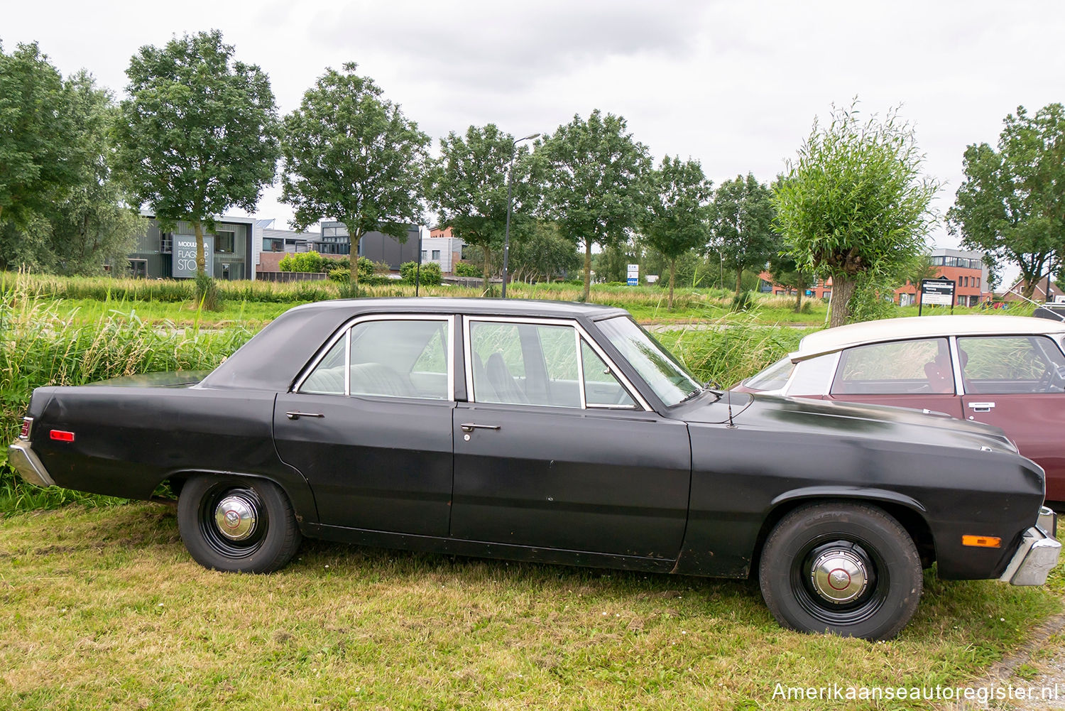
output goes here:
[[743, 270], [761, 270], [777, 246], [773, 232], [772, 191], [750, 173], [726, 180], [710, 206], [710, 251], [724, 269], [736, 275], [736, 293], [742, 291]]

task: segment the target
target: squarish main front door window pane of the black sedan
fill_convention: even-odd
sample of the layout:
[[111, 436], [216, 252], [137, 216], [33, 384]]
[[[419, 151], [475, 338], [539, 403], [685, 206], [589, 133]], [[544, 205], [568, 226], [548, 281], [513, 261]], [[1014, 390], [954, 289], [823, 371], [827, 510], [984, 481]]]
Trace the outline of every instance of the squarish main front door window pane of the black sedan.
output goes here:
[[472, 321], [476, 402], [580, 407], [573, 326]]

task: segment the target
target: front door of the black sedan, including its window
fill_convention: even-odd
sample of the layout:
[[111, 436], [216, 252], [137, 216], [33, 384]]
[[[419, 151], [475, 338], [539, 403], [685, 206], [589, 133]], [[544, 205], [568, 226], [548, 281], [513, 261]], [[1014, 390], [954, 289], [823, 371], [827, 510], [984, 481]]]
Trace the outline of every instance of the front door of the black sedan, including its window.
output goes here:
[[688, 429], [636, 404], [573, 324], [468, 320], [453, 415], [454, 537], [675, 559]]

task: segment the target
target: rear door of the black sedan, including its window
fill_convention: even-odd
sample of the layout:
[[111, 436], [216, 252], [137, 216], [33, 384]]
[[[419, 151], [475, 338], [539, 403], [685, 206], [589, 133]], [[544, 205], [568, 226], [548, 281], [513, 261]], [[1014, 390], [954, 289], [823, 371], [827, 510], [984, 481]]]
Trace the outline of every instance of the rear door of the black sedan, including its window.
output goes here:
[[281, 459], [328, 526], [446, 536], [450, 523], [453, 317], [366, 317], [279, 394]]

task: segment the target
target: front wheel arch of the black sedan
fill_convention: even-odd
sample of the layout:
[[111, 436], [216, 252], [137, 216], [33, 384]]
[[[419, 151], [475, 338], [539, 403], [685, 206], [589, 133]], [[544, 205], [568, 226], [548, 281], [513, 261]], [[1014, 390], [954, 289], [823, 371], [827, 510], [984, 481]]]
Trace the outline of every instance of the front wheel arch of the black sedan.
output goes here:
[[880, 508], [897, 520], [906, 530], [917, 552], [921, 556], [921, 566], [928, 568], [935, 562], [935, 537], [928, 520], [924, 518], [924, 506], [919, 501], [887, 489], [873, 488], [836, 488], [814, 486], [794, 491], [787, 491], [774, 498], [763, 518], [761, 528], [755, 539], [754, 552], [751, 556], [751, 578], [758, 575], [758, 564], [766, 539], [773, 528], [785, 516], [796, 508], [821, 503], [864, 503]]

